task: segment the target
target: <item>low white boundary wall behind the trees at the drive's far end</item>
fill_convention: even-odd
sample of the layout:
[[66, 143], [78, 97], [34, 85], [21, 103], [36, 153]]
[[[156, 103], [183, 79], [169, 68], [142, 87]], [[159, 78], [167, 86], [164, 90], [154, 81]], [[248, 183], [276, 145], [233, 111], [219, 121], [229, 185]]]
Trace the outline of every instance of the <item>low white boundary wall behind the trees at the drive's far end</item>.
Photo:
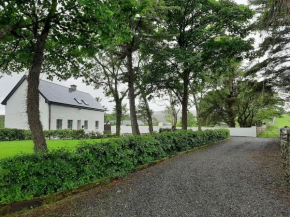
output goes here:
[[[153, 130], [155, 132], [159, 132], [160, 128], [171, 128], [170, 126], [154, 126]], [[177, 127], [177, 129], [181, 129]], [[197, 131], [197, 127], [189, 127], [188, 129], [192, 129]], [[217, 128], [217, 127], [203, 127], [203, 130], [213, 130], [213, 129], [228, 129], [230, 131], [230, 136], [247, 136], [247, 137], [257, 137], [256, 127], [249, 127], [249, 128]], [[139, 126], [140, 133], [149, 133], [148, 126]], [[111, 128], [112, 133], [116, 133], [116, 126], [112, 126]], [[125, 133], [132, 133], [131, 126], [121, 126], [121, 134]]]

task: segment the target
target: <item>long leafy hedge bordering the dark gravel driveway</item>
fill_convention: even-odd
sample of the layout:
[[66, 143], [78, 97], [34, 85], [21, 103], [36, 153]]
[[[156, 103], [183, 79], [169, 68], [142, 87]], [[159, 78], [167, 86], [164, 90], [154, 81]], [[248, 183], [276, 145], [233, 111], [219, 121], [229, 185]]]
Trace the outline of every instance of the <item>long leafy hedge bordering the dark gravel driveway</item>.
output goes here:
[[83, 144], [0, 161], [0, 203], [65, 191], [105, 177], [123, 176], [154, 160], [229, 137], [228, 130], [164, 132]]

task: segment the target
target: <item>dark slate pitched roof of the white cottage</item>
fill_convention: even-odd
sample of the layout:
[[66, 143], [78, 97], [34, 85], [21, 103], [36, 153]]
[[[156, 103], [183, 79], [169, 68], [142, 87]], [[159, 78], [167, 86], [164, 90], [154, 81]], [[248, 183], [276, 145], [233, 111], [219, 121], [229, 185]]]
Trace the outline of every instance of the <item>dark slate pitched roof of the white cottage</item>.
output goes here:
[[[3, 100], [3, 105], [6, 105], [9, 98], [13, 95], [13, 93], [18, 89], [18, 87], [23, 83], [25, 79], [26, 76], [23, 76], [18, 84]], [[101, 106], [101, 104], [97, 102], [90, 94], [78, 90], [70, 91], [70, 88], [54, 84], [52, 82], [40, 80], [39, 92], [45, 98], [46, 102], [52, 104], [104, 111], [104, 108]], [[75, 99], [81, 102], [81, 104], [78, 103]], [[85, 102], [87, 103], [87, 105]]]

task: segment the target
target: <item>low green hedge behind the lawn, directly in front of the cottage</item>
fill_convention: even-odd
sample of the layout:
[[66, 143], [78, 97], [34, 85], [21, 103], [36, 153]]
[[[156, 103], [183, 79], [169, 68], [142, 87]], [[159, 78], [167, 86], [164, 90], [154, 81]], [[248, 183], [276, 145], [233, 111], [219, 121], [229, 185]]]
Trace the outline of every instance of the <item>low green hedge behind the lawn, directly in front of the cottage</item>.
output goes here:
[[[46, 138], [58, 139], [99, 139], [109, 138], [114, 136], [108, 133], [88, 132], [84, 130], [45, 130], [44, 135]], [[0, 129], [0, 141], [16, 141], [16, 140], [32, 140], [30, 130], [20, 129]]]

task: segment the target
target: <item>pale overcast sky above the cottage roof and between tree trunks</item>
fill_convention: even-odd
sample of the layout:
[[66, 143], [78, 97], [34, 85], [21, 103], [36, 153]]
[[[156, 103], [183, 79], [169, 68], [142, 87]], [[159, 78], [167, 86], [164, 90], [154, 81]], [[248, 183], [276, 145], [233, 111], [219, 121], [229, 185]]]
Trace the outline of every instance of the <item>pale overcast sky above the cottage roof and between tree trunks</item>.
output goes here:
[[[247, 0], [235, 0], [239, 4], [247, 4]], [[21, 77], [24, 75], [22, 74], [13, 74], [11, 76], [4, 75], [2, 78], [0, 78], [0, 102], [8, 95], [8, 93], [12, 90], [12, 88], [17, 84], [17, 82], [21, 79]], [[45, 75], [41, 75], [41, 79], [47, 80]], [[96, 90], [92, 86], [87, 86], [82, 82], [82, 79], [68, 79], [66, 81], [58, 81], [57, 79], [53, 80], [54, 83], [61, 84], [63, 86], [69, 87], [71, 84], [77, 85], [77, 89], [90, 93], [93, 97], [100, 97], [102, 98], [101, 104], [105, 107], [107, 107], [109, 110], [112, 110], [114, 107], [114, 103], [111, 102], [112, 98], [105, 97], [103, 94], [103, 90], [99, 89]], [[128, 104], [128, 100], [126, 100], [124, 103]], [[164, 109], [164, 105], [161, 105], [158, 102], [152, 102], [151, 103], [151, 109], [154, 111], [160, 111]], [[5, 106], [0, 104], [0, 115], [5, 114]]]

